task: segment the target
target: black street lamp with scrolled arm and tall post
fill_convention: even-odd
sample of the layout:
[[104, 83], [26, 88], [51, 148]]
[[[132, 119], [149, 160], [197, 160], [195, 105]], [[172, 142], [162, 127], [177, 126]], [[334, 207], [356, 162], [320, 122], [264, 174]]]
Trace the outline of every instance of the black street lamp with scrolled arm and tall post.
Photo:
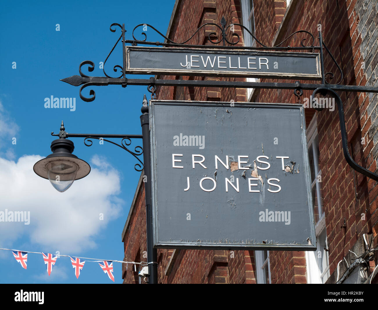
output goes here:
[[[148, 89], [152, 92], [152, 96], [156, 90], [155, 85], [149, 85]], [[134, 165], [136, 171], [144, 171], [146, 177], [144, 182], [146, 196], [146, 234], [147, 234], [147, 259], [149, 265], [149, 283], [155, 284], [158, 279], [157, 251], [153, 248], [153, 226], [152, 226], [152, 194], [151, 194], [151, 159], [150, 159], [150, 123], [149, 123], [149, 107], [146, 95], [143, 97], [143, 106], [140, 116], [142, 134], [71, 134], [65, 131], [64, 124], [60, 126], [59, 134], [51, 132], [51, 136], [59, 136], [59, 139], [51, 142], [51, 151], [53, 154], [39, 160], [34, 164], [34, 172], [40, 177], [49, 179], [51, 184], [59, 192], [64, 192], [73, 183], [74, 180], [84, 178], [90, 173], [90, 166], [87, 162], [73, 155], [74, 145], [67, 138], [85, 138], [84, 144], [91, 146], [91, 139], [97, 139], [112, 143], [119, 146], [129, 154], [134, 156], [138, 162]], [[105, 138], [122, 139], [121, 143], [115, 143]], [[130, 150], [131, 139], [142, 139], [142, 146], [135, 146], [134, 150]], [[139, 157], [143, 156], [143, 162]]]

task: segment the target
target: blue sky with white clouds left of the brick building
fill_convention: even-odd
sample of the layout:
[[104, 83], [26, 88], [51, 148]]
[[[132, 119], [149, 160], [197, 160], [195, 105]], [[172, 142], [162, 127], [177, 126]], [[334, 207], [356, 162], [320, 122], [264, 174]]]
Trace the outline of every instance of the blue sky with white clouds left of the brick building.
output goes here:
[[[85, 74], [103, 76], [99, 62], [120, 35], [119, 28], [112, 33], [110, 25], [125, 23], [127, 39], [139, 23], [165, 34], [173, 6], [174, 0], [2, 2], [0, 211], [29, 211], [30, 224], [0, 222], [0, 248], [123, 259], [121, 233], [140, 175], [134, 170], [136, 160], [110, 143], [99, 145], [95, 140], [87, 147], [84, 139], [73, 138], [73, 154], [86, 160], [92, 171], [64, 193], [34, 174], [33, 164], [51, 153], [50, 132], [59, 131], [61, 120], [67, 132], [141, 134], [139, 116], [143, 94], [149, 95], [146, 87], [95, 86], [96, 100], [87, 103], [80, 99], [79, 87], [59, 79], [79, 75], [79, 64], [85, 60], [96, 64], [93, 72]], [[164, 40], [153, 30], [146, 33], [149, 41]], [[108, 74], [114, 73], [116, 64], [122, 65], [120, 43], [108, 59]], [[89, 96], [90, 89], [83, 94]], [[76, 98], [76, 110], [46, 109], [45, 98], [51, 96]], [[99, 220], [100, 213], [104, 220]], [[122, 283], [121, 263], [113, 265], [115, 283]], [[98, 263], [85, 263], [77, 280], [70, 259], [61, 257], [49, 277], [42, 254], [30, 253], [25, 270], [10, 251], [0, 250], [0, 283], [113, 282]]]

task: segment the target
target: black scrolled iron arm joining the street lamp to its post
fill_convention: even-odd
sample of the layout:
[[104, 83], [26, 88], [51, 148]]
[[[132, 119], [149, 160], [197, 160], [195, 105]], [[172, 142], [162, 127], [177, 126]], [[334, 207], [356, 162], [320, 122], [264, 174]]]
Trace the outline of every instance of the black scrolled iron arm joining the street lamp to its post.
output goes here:
[[[64, 127], [63, 127], [64, 128]], [[143, 139], [142, 135], [137, 134], [70, 134], [66, 131], [60, 130], [59, 134], [54, 134], [54, 132], [51, 132], [51, 136], [59, 137], [59, 139], [65, 139], [65, 138], [85, 138], [84, 144], [86, 146], [91, 146], [93, 144], [93, 141], [91, 139], [97, 139], [106, 141], [109, 143], [112, 143], [116, 146], [119, 146], [123, 150], [130, 153], [132, 156], [134, 156], [139, 163], [136, 163], [134, 165], [134, 169], [136, 171], [142, 171], [144, 168], [143, 162], [139, 158], [139, 156], [143, 156], [143, 147], [142, 146], [135, 146], [134, 151], [131, 151], [128, 146], [131, 145], [132, 139]], [[121, 144], [115, 143], [111, 140], [107, 140], [105, 138], [116, 138], [116, 139], [122, 139]]]

